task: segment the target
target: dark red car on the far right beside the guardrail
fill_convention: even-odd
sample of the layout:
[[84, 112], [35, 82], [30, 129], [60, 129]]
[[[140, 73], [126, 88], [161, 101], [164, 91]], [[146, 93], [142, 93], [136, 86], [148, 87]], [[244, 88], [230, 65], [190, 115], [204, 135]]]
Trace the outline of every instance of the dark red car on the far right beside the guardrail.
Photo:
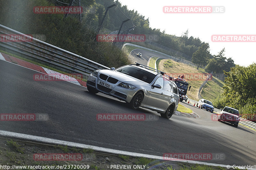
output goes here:
[[238, 126], [239, 123], [239, 111], [232, 107], [224, 107], [224, 109], [220, 109], [220, 115], [218, 117], [218, 121], [224, 121], [233, 124], [235, 127]]

